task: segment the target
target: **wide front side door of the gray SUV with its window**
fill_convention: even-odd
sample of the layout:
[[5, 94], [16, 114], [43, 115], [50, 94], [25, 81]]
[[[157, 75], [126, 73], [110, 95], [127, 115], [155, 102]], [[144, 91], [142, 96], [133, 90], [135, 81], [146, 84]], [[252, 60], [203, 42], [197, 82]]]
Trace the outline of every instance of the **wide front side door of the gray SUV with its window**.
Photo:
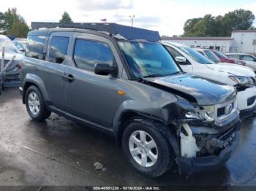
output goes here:
[[[118, 54], [109, 39], [93, 34], [75, 34], [70, 66], [65, 76], [69, 112], [105, 127], [111, 127], [121, 99], [118, 77], [94, 74], [95, 63], [118, 66]], [[120, 60], [120, 59], [119, 59]]]

